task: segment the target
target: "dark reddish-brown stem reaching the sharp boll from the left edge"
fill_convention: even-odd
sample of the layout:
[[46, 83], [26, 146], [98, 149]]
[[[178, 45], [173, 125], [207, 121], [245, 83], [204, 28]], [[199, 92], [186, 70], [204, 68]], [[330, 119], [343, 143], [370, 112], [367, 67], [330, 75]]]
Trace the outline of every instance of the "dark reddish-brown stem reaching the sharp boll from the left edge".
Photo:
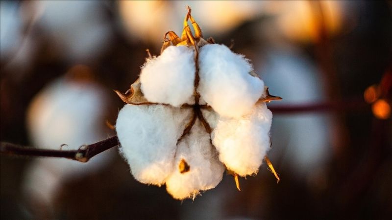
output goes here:
[[99, 141], [90, 145], [83, 145], [78, 150], [49, 150], [38, 149], [31, 147], [23, 147], [16, 144], [0, 142], [0, 153], [18, 156], [47, 156], [47, 157], [62, 157], [77, 160], [79, 162], [87, 162], [93, 156], [100, 154], [110, 148], [117, 147], [119, 140], [117, 136], [110, 137], [103, 141]]

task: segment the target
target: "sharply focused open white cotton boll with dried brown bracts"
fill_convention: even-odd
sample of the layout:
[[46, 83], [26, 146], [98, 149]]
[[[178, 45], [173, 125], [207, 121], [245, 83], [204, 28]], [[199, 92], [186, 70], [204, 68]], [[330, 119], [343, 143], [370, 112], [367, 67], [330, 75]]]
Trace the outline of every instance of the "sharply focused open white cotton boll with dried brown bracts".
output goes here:
[[[188, 21], [192, 22], [195, 34]], [[225, 170], [257, 174], [270, 149], [271, 96], [243, 55], [204, 40], [191, 10], [181, 37], [167, 32], [159, 56], [148, 52], [140, 78], [117, 91], [126, 103], [116, 131], [120, 152], [140, 182], [166, 185], [176, 199], [215, 188]]]

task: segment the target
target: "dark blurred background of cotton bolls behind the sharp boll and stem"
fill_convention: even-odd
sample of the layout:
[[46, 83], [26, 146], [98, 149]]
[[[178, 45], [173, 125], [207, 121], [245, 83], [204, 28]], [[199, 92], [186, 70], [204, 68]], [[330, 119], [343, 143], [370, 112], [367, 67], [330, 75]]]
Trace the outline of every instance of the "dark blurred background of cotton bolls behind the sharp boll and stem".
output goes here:
[[194, 201], [133, 179], [117, 149], [86, 164], [1, 155], [1, 219], [389, 219], [391, 1], [5, 1], [1, 141], [77, 149], [115, 134], [126, 91], [186, 5], [203, 35], [283, 97], [257, 176]]

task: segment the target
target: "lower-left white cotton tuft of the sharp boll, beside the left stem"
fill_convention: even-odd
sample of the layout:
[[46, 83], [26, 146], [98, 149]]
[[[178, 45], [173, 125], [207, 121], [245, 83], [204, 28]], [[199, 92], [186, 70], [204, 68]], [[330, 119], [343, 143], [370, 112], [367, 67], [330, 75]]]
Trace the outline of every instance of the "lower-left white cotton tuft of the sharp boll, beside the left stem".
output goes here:
[[120, 151], [138, 181], [161, 185], [172, 173], [176, 143], [190, 114], [191, 110], [163, 105], [128, 104], [120, 110]]

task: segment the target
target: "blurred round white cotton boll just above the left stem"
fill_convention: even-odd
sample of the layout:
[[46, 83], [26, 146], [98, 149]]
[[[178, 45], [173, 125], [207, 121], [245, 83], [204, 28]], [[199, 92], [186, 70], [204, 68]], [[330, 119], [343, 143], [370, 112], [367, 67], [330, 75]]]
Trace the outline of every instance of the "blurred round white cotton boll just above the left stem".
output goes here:
[[30, 140], [34, 146], [59, 150], [61, 144], [77, 149], [105, 139], [107, 106], [99, 85], [60, 78], [38, 93], [27, 110]]

